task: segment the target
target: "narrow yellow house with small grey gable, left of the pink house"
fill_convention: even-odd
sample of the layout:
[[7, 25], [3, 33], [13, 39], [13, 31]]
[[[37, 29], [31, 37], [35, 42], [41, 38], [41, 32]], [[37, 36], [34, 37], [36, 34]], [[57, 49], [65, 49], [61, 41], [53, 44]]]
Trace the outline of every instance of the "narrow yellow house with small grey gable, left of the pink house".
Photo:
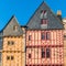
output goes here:
[[24, 33], [15, 16], [12, 16], [3, 29], [2, 66], [24, 66]]

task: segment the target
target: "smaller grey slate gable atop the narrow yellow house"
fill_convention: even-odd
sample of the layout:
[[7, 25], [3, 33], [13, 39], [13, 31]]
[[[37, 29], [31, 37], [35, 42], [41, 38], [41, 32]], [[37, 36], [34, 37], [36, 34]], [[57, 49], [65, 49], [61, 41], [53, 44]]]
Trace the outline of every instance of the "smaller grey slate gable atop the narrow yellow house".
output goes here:
[[[14, 26], [18, 26], [16, 31], [14, 31]], [[21, 26], [18, 23], [15, 16], [13, 15], [3, 29], [3, 36], [20, 36], [22, 35], [22, 33], [23, 32], [21, 30]]]

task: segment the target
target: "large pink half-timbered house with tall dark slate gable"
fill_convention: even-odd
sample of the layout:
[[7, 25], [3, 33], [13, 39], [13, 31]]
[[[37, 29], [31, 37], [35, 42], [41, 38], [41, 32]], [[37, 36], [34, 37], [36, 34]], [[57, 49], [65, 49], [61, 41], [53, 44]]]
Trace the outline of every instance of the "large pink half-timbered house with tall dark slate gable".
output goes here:
[[26, 66], [64, 66], [63, 23], [45, 2], [26, 24]]

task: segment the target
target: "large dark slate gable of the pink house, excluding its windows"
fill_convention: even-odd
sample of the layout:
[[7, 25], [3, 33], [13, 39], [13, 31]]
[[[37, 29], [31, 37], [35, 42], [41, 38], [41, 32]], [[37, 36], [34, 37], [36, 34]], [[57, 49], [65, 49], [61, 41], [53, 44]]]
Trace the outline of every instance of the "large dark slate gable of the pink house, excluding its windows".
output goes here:
[[56, 30], [64, 29], [62, 21], [52, 12], [52, 10], [46, 6], [45, 2], [42, 2], [34, 14], [29, 20], [26, 26], [28, 30], [42, 30], [41, 28], [41, 11], [47, 11], [47, 28], [43, 28], [43, 30]]

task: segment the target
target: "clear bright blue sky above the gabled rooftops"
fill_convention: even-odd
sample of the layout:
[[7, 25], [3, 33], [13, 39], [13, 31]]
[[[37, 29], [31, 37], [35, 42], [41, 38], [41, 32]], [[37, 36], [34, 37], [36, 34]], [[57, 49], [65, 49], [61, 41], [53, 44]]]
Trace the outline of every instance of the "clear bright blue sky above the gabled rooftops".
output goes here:
[[[54, 13], [62, 10], [66, 16], [66, 0], [44, 0]], [[43, 0], [0, 0], [0, 30], [14, 14], [21, 25], [25, 25]]]

